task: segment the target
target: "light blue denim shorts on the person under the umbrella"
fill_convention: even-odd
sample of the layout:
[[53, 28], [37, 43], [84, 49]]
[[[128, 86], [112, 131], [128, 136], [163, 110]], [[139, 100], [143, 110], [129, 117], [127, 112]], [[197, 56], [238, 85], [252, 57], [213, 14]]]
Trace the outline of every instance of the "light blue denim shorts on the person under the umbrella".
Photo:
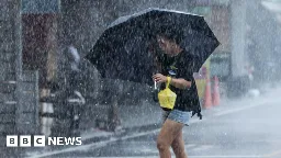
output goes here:
[[179, 111], [179, 110], [171, 110], [171, 111], [162, 111], [162, 123], [169, 119], [171, 121], [189, 125], [191, 113]]

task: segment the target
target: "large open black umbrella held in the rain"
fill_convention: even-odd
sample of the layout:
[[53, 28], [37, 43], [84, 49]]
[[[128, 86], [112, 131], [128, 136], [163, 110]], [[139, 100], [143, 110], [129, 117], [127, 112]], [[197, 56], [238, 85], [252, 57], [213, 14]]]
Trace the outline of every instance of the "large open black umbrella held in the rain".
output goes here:
[[194, 58], [196, 72], [220, 45], [203, 16], [178, 11], [148, 9], [115, 20], [86, 56], [104, 78], [153, 83], [154, 56], [148, 47], [159, 31], [182, 38]]

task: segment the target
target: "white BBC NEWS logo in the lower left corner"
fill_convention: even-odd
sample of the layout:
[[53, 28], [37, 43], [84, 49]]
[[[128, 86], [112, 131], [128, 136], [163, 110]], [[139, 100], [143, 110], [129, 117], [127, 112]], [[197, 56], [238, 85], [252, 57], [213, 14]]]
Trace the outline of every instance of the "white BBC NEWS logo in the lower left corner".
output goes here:
[[34, 135], [33, 139], [30, 135], [8, 135], [7, 147], [44, 147], [52, 145], [82, 145], [81, 137], [46, 137], [44, 135]]

